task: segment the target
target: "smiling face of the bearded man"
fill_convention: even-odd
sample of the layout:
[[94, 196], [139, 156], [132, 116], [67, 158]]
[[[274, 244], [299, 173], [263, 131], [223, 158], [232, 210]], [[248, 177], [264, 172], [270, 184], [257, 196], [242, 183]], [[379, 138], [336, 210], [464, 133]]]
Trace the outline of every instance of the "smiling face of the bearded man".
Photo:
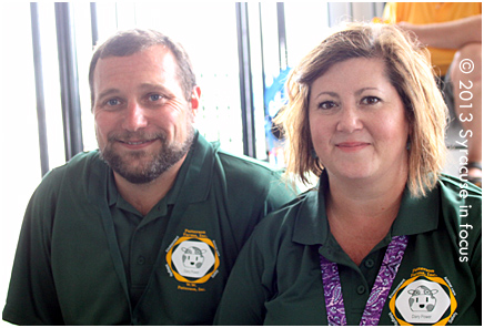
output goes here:
[[102, 157], [127, 181], [149, 183], [184, 160], [200, 89], [188, 101], [172, 53], [154, 45], [100, 59], [93, 79], [95, 134]]

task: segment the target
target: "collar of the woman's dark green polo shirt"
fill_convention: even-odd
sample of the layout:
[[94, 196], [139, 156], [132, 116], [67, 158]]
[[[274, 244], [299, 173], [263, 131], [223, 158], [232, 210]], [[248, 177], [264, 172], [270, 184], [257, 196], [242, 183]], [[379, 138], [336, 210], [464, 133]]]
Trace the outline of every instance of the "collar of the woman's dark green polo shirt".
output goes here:
[[[323, 171], [319, 189], [310, 191], [294, 223], [293, 242], [303, 245], [326, 245], [331, 235], [326, 217], [324, 195], [329, 189], [327, 173]], [[435, 187], [425, 197], [411, 197], [405, 188], [399, 215], [386, 239], [393, 236], [416, 235], [437, 228], [440, 215], [440, 189]]]

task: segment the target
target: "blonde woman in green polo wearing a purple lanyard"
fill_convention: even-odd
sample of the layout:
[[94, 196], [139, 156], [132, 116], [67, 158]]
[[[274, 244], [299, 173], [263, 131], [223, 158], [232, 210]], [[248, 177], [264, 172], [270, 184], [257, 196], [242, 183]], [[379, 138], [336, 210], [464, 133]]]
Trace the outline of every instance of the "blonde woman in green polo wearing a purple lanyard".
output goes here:
[[424, 50], [352, 24], [288, 89], [288, 173], [319, 188], [254, 230], [215, 324], [480, 324], [482, 192], [440, 174], [447, 112]]

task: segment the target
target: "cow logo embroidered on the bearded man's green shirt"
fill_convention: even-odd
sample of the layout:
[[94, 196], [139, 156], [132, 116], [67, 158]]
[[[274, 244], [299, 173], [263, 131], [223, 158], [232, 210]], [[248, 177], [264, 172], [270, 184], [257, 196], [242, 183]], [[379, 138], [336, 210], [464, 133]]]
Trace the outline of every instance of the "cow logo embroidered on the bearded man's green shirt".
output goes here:
[[219, 271], [220, 256], [216, 244], [205, 232], [185, 229], [167, 249], [167, 270], [178, 281], [186, 285], [179, 289], [204, 291], [204, 284]]

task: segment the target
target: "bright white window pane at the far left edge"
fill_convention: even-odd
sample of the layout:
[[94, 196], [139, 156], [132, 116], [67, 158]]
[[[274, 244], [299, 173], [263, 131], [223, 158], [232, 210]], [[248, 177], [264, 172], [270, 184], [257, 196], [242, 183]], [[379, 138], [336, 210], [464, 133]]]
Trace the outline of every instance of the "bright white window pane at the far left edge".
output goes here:
[[7, 299], [23, 213], [41, 178], [29, 2], [0, 3], [0, 299]]

